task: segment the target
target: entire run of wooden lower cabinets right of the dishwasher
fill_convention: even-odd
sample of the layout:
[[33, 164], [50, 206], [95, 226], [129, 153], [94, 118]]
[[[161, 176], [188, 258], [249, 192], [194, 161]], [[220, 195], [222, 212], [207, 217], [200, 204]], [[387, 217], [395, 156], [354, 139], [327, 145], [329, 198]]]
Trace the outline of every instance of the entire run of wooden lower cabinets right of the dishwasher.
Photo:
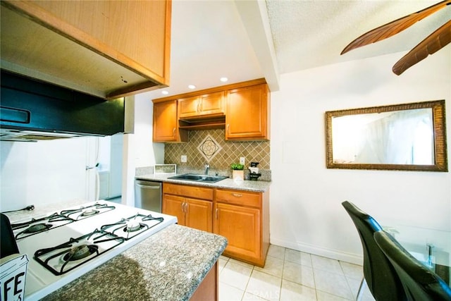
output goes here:
[[224, 255], [263, 267], [269, 247], [269, 191], [163, 183], [163, 214], [227, 238]]

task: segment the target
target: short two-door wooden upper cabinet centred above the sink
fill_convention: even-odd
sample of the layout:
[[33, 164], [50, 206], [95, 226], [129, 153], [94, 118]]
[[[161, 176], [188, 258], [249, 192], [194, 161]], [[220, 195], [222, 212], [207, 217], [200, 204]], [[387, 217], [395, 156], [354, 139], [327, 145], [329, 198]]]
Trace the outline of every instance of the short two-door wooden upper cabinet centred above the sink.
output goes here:
[[224, 115], [224, 92], [178, 99], [178, 118], [205, 118]]

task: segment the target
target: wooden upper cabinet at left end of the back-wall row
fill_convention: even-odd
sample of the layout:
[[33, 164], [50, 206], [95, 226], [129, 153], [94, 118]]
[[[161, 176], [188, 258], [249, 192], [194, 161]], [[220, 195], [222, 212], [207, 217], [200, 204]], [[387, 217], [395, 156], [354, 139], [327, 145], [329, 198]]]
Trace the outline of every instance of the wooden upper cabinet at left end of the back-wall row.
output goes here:
[[177, 118], [177, 101], [158, 102], [154, 104], [154, 142], [186, 142], [188, 135], [179, 130]]

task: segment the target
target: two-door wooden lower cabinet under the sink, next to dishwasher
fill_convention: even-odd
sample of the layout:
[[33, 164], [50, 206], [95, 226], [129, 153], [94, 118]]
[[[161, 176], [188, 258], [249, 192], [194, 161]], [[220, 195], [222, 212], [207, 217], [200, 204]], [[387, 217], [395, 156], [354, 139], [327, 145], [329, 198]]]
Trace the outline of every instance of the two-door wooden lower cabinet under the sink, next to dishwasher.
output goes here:
[[[210, 195], [211, 199], [208, 199]], [[163, 183], [163, 213], [177, 216], [178, 224], [182, 226], [213, 232], [212, 198], [212, 188]]]

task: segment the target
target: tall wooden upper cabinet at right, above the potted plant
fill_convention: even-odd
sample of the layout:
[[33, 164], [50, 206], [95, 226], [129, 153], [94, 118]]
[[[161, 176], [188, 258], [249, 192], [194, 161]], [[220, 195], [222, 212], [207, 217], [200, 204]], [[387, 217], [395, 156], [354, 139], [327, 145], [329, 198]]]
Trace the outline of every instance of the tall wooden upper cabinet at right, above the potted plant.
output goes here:
[[268, 123], [266, 84], [228, 91], [226, 140], [268, 140]]

